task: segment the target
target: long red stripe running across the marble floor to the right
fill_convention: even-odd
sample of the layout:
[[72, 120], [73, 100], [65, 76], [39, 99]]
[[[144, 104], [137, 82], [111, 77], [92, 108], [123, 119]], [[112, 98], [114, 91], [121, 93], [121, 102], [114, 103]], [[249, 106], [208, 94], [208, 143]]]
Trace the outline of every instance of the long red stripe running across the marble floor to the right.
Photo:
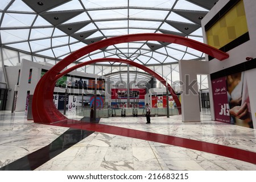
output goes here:
[[173, 146], [190, 148], [202, 152], [208, 152], [210, 154], [216, 154], [225, 156], [232, 159], [242, 160], [256, 164], [256, 153], [239, 148], [233, 148], [228, 146], [222, 146], [220, 144], [201, 142], [199, 140], [173, 137], [170, 135], [150, 133], [147, 131], [139, 131], [133, 129], [126, 129], [123, 127], [102, 125], [98, 123], [81, 122], [72, 119], [68, 119], [65, 122], [54, 123], [55, 126], [71, 127], [74, 129], [82, 129], [89, 131], [97, 131], [101, 133], [108, 133], [113, 135], [120, 135], [123, 137], [137, 138], [148, 140], [151, 142], [159, 142], [165, 144], [171, 144]]

